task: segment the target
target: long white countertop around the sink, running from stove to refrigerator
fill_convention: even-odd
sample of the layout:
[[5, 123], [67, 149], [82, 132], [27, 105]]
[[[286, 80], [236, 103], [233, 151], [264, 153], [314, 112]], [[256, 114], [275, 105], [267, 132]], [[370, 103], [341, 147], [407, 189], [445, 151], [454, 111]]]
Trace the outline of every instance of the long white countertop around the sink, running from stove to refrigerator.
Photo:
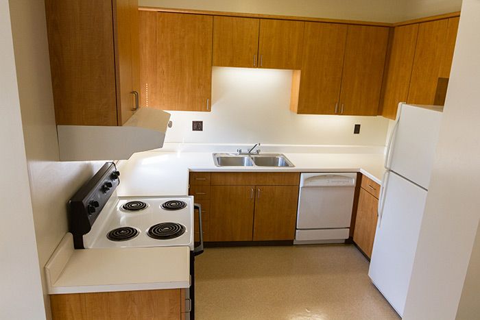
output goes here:
[[189, 194], [189, 171], [360, 172], [381, 184], [381, 153], [283, 153], [295, 165], [276, 167], [216, 167], [212, 152], [145, 151], [119, 162], [119, 196], [169, 196]]

